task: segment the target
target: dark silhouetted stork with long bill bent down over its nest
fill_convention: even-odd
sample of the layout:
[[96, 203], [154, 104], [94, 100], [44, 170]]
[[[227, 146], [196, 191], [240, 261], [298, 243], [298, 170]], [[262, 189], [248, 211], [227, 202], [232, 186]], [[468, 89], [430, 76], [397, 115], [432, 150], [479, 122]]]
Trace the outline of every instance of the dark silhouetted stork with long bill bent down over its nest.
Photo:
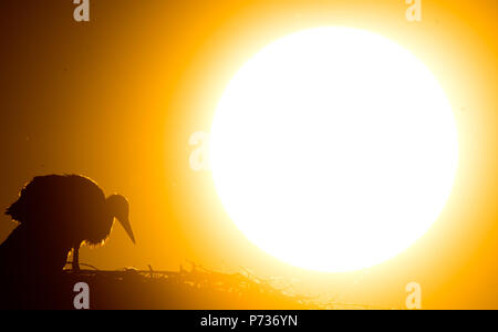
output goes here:
[[6, 211], [20, 225], [0, 245], [0, 269], [18, 273], [30, 269], [61, 271], [72, 249], [72, 267], [79, 270], [81, 245], [103, 243], [114, 218], [135, 243], [128, 214], [126, 198], [105, 198], [104, 191], [87, 177], [37, 176]]

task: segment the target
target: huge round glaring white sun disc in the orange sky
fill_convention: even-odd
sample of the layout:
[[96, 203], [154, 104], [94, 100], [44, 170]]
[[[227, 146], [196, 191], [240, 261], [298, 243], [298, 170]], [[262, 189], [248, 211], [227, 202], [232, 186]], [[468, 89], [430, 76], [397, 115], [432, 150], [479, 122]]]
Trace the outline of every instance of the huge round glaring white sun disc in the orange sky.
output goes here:
[[250, 59], [219, 101], [210, 163], [256, 246], [292, 266], [353, 271], [422, 237], [450, 194], [453, 112], [413, 54], [381, 35], [315, 28]]

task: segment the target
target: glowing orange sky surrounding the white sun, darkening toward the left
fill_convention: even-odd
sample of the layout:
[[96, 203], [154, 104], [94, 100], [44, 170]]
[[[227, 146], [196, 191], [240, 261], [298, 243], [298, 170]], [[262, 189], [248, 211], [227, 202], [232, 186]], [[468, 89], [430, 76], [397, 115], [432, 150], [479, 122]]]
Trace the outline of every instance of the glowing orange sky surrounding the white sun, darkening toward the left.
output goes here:
[[[120, 226], [84, 249], [101, 269], [177, 269], [186, 260], [300, 280], [338, 300], [424, 308], [498, 308], [498, 3], [423, 0], [422, 22], [402, 0], [2, 1], [0, 204], [34, 175], [79, 173], [132, 205], [133, 247]], [[430, 231], [396, 258], [354, 273], [313, 273], [261, 252], [231, 224], [208, 172], [189, 168], [191, 133], [209, 132], [231, 75], [279, 37], [319, 25], [383, 34], [439, 80], [457, 121], [454, 193]], [[415, 93], [415, 92], [414, 92]], [[0, 219], [0, 239], [12, 225]], [[313, 286], [313, 287], [312, 287]]]

